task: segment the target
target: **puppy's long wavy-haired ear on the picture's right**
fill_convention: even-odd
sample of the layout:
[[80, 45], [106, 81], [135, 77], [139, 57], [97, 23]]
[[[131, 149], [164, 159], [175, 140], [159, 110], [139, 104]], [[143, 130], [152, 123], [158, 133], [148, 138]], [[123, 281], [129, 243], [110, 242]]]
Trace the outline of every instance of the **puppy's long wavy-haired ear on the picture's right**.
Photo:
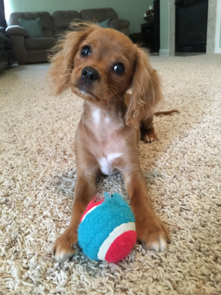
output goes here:
[[127, 125], [139, 128], [140, 121], [161, 100], [161, 81], [158, 73], [149, 63], [145, 50], [137, 47], [137, 59], [132, 81], [133, 92], [125, 115]]

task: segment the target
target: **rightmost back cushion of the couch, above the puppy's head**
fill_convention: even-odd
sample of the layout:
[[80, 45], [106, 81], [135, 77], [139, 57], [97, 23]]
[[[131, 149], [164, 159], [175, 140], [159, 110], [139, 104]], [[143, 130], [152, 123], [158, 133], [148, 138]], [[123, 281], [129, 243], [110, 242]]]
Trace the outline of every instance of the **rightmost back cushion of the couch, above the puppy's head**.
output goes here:
[[83, 9], [80, 12], [80, 18], [100, 23], [108, 18], [114, 20], [117, 18], [117, 13], [113, 8]]

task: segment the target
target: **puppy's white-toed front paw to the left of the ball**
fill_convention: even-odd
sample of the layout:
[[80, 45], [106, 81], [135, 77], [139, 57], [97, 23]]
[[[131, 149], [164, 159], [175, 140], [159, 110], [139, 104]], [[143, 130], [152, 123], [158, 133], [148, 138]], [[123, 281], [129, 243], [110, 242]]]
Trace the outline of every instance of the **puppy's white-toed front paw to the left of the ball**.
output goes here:
[[72, 228], [67, 228], [66, 231], [55, 241], [53, 251], [57, 262], [64, 262], [73, 254], [79, 252], [77, 246], [77, 234]]

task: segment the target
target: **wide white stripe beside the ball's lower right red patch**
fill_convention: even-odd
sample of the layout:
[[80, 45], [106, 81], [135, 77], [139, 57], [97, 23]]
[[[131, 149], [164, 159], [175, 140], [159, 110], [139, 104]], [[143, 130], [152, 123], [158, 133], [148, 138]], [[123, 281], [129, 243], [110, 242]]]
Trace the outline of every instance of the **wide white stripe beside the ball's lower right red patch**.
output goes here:
[[109, 234], [109, 236], [104, 240], [103, 244], [97, 253], [97, 258], [100, 260], [105, 260], [106, 253], [113, 243], [113, 241], [118, 238], [125, 231], [136, 231], [135, 222], [122, 223], [115, 227], [115, 229]]

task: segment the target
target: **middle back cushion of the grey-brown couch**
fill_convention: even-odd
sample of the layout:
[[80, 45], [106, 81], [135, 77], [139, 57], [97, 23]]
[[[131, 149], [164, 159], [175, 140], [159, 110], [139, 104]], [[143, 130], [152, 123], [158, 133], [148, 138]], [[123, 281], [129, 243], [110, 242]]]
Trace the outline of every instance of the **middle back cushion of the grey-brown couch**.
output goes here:
[[68, 30], [69, 24], [79, 18], [80, 15], [75, 10], [55, 11], [52, 14], [54, 36], [63, 34]]

